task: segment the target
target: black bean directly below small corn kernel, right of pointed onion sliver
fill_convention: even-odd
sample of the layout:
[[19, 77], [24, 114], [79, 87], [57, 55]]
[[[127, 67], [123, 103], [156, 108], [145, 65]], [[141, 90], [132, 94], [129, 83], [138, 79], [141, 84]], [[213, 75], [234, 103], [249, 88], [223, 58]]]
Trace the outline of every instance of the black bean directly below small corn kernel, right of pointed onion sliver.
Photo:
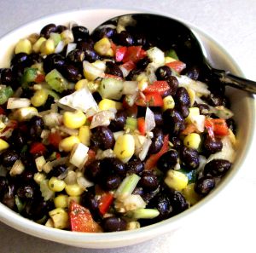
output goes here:
[[164, 127], [170, 135], [178, 135], [185, 128], [183, 116], [176, 109], [168, 109], [163, 114]]

